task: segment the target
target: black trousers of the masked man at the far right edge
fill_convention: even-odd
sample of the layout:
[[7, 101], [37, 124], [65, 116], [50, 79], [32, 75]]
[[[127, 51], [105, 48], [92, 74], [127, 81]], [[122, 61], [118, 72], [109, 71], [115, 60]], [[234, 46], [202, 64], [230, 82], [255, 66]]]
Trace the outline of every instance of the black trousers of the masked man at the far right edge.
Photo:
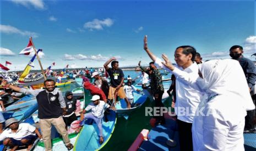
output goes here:
[[[255, 104], [256, 95], [252, 96], [253, 103]], [[255, 124], [253, 123], [255, 117], [255, 109], [247, 111], [246, 115], [246, 125], [244, 126], [244, 129], [246, 130], [252, 130], [255, 128]]]

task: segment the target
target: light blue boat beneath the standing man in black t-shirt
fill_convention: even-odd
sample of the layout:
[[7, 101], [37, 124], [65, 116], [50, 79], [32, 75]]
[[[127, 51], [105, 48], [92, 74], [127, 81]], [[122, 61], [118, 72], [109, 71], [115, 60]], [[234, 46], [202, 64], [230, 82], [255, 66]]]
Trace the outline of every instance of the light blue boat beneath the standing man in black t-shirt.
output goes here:
[[126, 101], [124, 99], [121, 99], [119, 102], [116, 103], [116, 113], [129, 113], [133, 112], [134, 110], [140, 108], [143, 103], [145, 103], [147, 96], [144, 95], [141, 92], [134, 91], [133, 92], [134, 96], [134, 104], [135, 106], [128, 109]]

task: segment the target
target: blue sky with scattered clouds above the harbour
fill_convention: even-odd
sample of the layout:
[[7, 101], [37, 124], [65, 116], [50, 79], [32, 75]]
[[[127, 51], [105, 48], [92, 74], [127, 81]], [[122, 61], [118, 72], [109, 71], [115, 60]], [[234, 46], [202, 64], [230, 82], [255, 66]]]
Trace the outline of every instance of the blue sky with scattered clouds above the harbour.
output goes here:
[[43, 68], [101, 67], [111, 56], [121, 67], [146, 65], [145, 34], [153, 53], [172, 60], [179, 45], [193, 45], [206, 60], [229, 57], [238, 44], [249, 57], [254, 14], [255, 1], [1, 1], [0, 63], [24, 69], [29, 57], [18, 54], [30, 36], [43, 49]]

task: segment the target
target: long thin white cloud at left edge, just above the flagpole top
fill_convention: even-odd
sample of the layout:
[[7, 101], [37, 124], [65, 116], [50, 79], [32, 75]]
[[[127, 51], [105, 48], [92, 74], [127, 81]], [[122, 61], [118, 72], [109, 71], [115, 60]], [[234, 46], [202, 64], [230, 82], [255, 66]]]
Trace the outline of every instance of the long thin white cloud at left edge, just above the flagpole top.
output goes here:
[[35, 33], [35, 32], [22, 31], [22, 30], [19, 30], [16, 27], [9, 26], [9, 25], [0, 25], [0, 32], [1, 33], [7, 33], [7, 34], [16, 33], [16, 34], [21, 34], [22, 36], [31, 36], [33, 38], [38, 37], [38, 34]]

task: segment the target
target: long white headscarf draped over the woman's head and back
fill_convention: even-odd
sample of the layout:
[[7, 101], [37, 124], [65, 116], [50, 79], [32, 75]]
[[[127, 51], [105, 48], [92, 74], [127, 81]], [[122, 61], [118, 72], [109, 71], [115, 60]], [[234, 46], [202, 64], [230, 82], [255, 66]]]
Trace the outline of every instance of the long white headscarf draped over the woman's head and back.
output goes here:
[[255, 108], [249, 93], [246, 77], [238, 61], [232, 59], [210, 60], [199, 65], [203, 83], [199, 86], [209, 96], [228, 95], [232, 100], [241, 100], [247, 111]]

